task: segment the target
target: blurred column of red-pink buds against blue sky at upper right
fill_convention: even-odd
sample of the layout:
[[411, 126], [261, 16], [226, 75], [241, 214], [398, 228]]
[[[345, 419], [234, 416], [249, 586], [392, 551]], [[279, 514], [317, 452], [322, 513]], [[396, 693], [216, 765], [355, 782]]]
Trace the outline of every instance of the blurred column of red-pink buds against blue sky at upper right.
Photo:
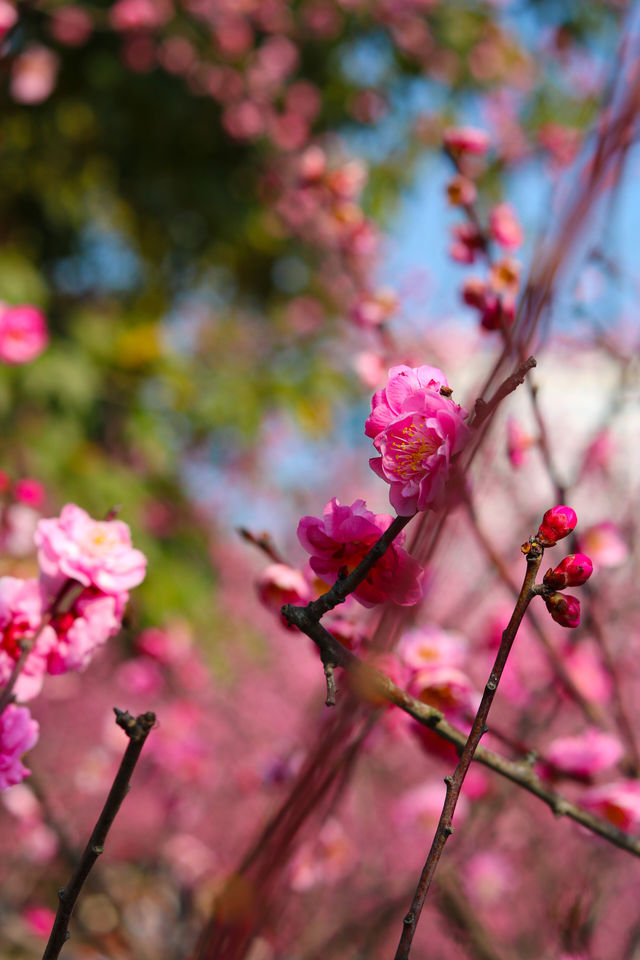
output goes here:
[[[453, 227], [451, 257], [458, 263], [472, 264], [480, 256], [489, 266], [488, 277], [474, 276], [465, 281], [462, 298], [478, 311], [484, 330], [502, 330], [515, 317], [520, 264], [512, 254], [522, 246], [522, 227], [508, 203], [491, 207], [486, 228], [479, 221], [474, 207], [478, 194], [475, 180], [484, 172], [488, 134], [475, 127], [450, 127], [444, 132], [443, 142], [458, 171], [447, 184], [447, 196], [452, 206], [467, 215], [464, 222]], [[490, 256], [491, 244], [504, 251], [500, 258]]]

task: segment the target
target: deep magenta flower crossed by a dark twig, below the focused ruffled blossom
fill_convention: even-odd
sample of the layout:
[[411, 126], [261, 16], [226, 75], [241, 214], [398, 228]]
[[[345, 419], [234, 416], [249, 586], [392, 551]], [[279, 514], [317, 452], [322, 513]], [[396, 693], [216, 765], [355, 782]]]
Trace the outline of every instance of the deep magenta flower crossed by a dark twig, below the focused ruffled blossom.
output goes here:
[[[324, 508], [322, 519], [302, 517], [298, 539], [311, 554], [313, 572], [332, 584], [341, 571], [350, 573], [358, 566], [391, 521], [385, 513], [367, 510], [364, 500], [356, 500], [348, 507], [334, 497]], [[364, 607], [385, 600], [411, 606], [422, 596], [422, 567], [402, 549], [403, 542], [401, 532], [353, 591]]]

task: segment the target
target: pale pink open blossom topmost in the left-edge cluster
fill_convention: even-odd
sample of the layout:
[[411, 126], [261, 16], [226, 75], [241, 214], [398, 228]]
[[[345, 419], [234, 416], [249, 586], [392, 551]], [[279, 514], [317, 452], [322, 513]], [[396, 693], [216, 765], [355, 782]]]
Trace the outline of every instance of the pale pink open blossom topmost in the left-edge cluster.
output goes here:
[[119, 594], [142, 583], [146, 558], [131, 546], [121, 520], [93, 520], [73, 503], [60, 517], [41, 520], [35, 535], [38, 563], [49, 587], [71, 578], [103, 593]]

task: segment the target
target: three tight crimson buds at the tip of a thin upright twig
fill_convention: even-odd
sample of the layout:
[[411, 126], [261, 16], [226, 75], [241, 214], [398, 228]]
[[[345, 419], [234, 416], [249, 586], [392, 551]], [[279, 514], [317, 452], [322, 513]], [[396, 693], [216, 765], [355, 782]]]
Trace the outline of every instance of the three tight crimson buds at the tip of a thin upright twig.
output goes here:
[[[571, 507], [559, 505], [547, 510], [535, 536], [542, 547], [554, 547], [574, 530], [577, 523]], [[565, 587], [581, 587], [593, 573], [593, 563], [584, 553], [572, 553], [555, 569], [547, 570], [542, 581], [541, 594], [547, 610], [562, 627], [577, 627], [580, 623], [580, 601], [577, 597], [559, 593]]]

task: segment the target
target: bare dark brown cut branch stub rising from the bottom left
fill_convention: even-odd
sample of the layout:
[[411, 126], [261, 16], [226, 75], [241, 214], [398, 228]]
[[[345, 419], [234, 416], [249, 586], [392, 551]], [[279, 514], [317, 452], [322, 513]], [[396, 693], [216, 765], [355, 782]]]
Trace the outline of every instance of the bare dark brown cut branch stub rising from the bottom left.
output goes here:
[[84, 848], [69, 883], [58, 893], [60, 901], [58, 911], [51, 936], [42, 955], [42, 960], [57, 960], [63, 945], [69, 939], [69, 920], [71, 919], [73, 908], [91, 868], [104, 851], [107, 834], [122, 805], [122, 801], [129, 792], [129, 780], [138, 762], [147, 736], [156, 722], [155, 714], [151, 712], [142, 713], [138, 717], [132, 717], [130, 713], [118, 710], [117, 707], [114, 707], [114, 712], [116, 714], [116, 723], [119, 727], [122, 727], [129, 737], [129, 745], [116, 773], [111, 790], [109, 791], [109, 796], [93, 828], [89, 842]]

